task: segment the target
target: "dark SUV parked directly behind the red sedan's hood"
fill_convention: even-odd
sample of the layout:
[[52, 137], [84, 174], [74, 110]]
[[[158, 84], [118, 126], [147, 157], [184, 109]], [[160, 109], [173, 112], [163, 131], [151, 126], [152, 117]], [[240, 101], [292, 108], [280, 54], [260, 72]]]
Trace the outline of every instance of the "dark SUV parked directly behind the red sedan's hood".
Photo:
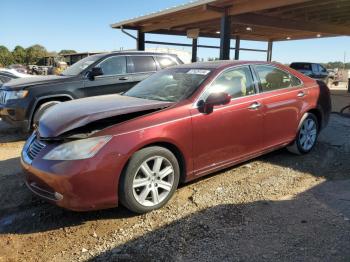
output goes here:
[[113, 52], [86, 57], [59, 76], [14, 79], [0, 87], [0, 118], [29, 131], [49, 107], [68, 100], [122, 93], [154, 72], [182, 64], [171, 54]]

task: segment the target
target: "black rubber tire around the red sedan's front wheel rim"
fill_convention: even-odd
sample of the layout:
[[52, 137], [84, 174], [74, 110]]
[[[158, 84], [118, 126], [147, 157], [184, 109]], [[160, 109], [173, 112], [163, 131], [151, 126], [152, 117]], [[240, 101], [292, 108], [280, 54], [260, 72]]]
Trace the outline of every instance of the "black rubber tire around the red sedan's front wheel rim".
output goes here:
[[[133, 189], [134, 177], [137, 176], [137, 173], [139, 172], [138, 170], [140, 169], [140, 166], [142, 163], [144, 163], [145, 161], [147, 161], [152, 157], [158, 157], [158, 156], [165, 158], [167, 161], [169, 161], [169, 163], [171, 163], [174, 171], [173, 185], [168, 195], [159, 204], [154, 206], [145, 206], [140, 204], [139, 201], [137, 201], [137, 199], [134, 196], [134, 189]], [[131, 157], [129, 163], [127, 164], [126, 168], [124, 169], [121, 175], [121, 178], [119, 181], [119, 200], [123, 204], [123, 206], [125, 206], [132, 212], [135, 212], [138, 214], [147, 213], [154, 209], [161, 208], [174, 195], [177, 189], [177, 186], [179, 184], [179, 178], [180, 178], [179, 163], [171, 151], [159, 146], [152, 146], [152, 147], [141, 149]]]

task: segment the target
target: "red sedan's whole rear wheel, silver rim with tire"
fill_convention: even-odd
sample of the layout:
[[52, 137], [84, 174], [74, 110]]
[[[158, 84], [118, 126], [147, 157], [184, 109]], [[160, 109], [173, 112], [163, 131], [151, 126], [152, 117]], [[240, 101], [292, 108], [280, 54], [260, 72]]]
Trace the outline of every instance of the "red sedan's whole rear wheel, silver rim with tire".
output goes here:
[[304, 116], [294, 143], [287, 147], [288, 151], [302, 155], [309, 153], [316, 145], [319, 126], [317, 118], [312, 113]]

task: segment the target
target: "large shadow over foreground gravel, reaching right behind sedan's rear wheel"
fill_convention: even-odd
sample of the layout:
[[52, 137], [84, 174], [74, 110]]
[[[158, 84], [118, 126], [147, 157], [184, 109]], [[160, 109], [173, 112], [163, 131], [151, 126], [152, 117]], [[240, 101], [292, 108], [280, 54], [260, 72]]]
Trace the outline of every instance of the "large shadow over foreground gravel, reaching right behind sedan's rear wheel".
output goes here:
[[201, 210], [90, 261], [350, 261], [350, 133], [336, 120], [309, 155], [279, 150], [257, 159], [326, 182], [284, 201]]

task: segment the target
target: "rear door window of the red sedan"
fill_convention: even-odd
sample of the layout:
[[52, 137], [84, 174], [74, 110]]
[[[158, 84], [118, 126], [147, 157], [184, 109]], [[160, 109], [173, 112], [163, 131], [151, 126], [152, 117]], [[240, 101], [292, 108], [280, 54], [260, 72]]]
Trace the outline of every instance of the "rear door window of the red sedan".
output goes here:
[[297, 77], [273, 66], [258, 65], [255, 70], [263, 92], [301, 85]]

